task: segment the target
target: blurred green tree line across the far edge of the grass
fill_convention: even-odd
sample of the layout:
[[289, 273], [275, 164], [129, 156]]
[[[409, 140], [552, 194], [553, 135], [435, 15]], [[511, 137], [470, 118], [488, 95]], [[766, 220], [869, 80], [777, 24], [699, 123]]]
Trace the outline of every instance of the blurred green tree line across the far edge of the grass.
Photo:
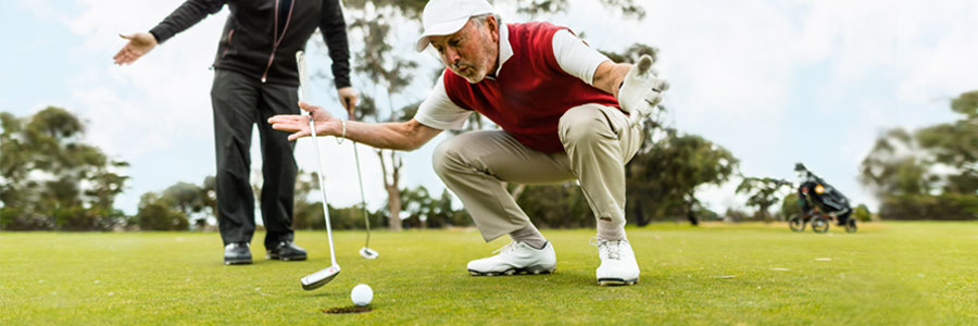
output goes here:
[[[641, 51], [629, 55], [637, 53]], [[978, 220], [978, 91], [953, 99], [951, 109], [961, 114], [960, 120], [914, 131], [888, 130], [863, 160], [860, 179], [880, 199], [879, 218]], [[798, 197], [790, 183], [742, 176], [737, 172], [739, 160], [723, 147], [662, 126], [656, 120], [644, 123], [653, 131], [647, 133], [641, 150], [626, 166], [629, 224], [686, 220], [695, 225], [700, 220], [720, 218], [770, 222], [798, 211]], [[159, 192], [143, 193], [137, 213], [127, 216], [114, 208], [114, 201], [128, 181], [125, 168], [129, 164], [85, 143], [85, 125], [77, 116], [54, 106], [28, 117], [0, 112], [0, 126], [3, 230], [213, 228], [213, 176], [200, 184], [178, 181]], [[741, 179], [736, 191], [749, 197], [745, 204], [755, 208], [754, 213], [732, 209], [716, 213], [697, 200], [700, 186], [722, 185], [734, 177]], [[315, 173], [299, 173], [293, 218], [297, 229], [325, 227], [322, 203], [310, 200], [317, 190], [316, 179]], [[261, 191], [260, 185], [253, 188]], [[540, 227], [594, 224], [587, 200], [575, 183], [507, 185], [507, 189]], [[463, 209], [453, 208], [452, 195], [447, 190], [430, 193], [424, 187], [399, 187], [397, 195], [396, 218], [391, 218], [388, 200], [374, 211], [359, 204], [329, 205], [331, 223], [338, 229], [364, 228], [366, 212], [371, 225], [391, 229], [392, 225], [397, 229], [472, 225]], [[261, 198], [260, 193], [255, 198]], [[865, 204], [854, 211], [856, 218], [870, 218]]]

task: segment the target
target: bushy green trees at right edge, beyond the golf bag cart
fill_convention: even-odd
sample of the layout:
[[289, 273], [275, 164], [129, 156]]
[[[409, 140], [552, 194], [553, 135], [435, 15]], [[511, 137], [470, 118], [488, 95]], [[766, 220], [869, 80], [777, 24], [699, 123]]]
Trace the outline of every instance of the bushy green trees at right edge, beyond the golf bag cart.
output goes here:
[[954, 122], [889, 129], [860, 165], [887, 220], [978, 220], [978, 90], [950, 101]]

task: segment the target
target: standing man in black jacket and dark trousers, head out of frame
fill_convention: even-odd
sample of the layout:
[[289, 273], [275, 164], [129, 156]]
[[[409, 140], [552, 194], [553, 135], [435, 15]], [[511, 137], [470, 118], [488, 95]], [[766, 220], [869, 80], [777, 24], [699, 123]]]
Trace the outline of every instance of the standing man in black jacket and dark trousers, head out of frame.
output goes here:
[[129, 42], [113, 58], [133, 63], [158, 43], [216, 13], [224, 4], [230, 15], [224, 25], [211, 102], [217, 151], [217, 224], [224, 240], [225, 264], [250, 264], [254, 234], [254, 195], [248, 176], [252, 126], [259, 124], [262, 147], [262, 220], [266, 258], [305, 260], [296, 246], [292, 203], [296, 189], [296, 143], [286, 133], [263, 123], [276, 114], [296, 114], [299, 73], [296, 51], [305, 48], [316, 27], [329, 48], [333, 76], [341, 103], [352, 113], [356, 93], [350, 87], [347, 25], [339, 0], [188, 0], [149, 33], [122, 36]]

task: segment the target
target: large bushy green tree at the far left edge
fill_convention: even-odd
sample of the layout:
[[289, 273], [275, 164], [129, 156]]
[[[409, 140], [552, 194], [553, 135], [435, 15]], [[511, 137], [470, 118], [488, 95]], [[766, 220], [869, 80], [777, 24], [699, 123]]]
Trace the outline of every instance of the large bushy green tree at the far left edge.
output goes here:
[[84, 122], [48, 106], [32, 116], [0, 113], [0, 224], [21, 229], [109, 229], [128, 163], [85, 142]]

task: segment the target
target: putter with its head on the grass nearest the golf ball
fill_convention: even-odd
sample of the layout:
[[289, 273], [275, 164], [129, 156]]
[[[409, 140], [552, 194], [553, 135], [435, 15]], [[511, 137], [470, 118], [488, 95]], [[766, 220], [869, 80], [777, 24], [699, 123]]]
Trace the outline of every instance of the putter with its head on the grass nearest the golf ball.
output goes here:
[[[299, 66], [299, 89], [301, 100], [305, 100], [310, 97], [309, 93], [309, 72], [305, 70], [305, 53], [302, 51], [296, 52], [296, 63]], [[319, 272], [306, 275], [299, 283], [302, 284], [303, 290], [313, 290], [317, 289], [339, 275], [340, 268], [339, 264], [336, 263], [336, 252], [333, 250], [333, 229], [329, 226], [329, 208], [326, 205], [326, 177], [323, 176], [323, 162], [319, 156], [319, 142], [316, 139], [316, 123], [312, 118], [312, 114], [309, 114], [309, 128], [311, 130], [313, 138], [313, 148], [316, 149], [316, 167], [319, 172], [319, 192], [323, 195], [323, 217], [326, 220], [326, 237], [329, 240], [329, 259], [333, 261], [333, 265], [322, 269]]]

